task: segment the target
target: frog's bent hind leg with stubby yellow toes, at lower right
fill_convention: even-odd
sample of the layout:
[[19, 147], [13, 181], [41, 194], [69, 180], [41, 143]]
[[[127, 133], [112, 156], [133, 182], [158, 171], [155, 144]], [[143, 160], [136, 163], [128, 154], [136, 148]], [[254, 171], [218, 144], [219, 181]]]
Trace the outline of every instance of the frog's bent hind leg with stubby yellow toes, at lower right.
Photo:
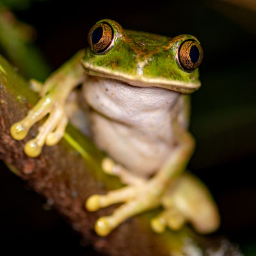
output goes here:
[[157, 233], [163, 232], [166, 227], [177, 230], [186, 221], [201, 234], [213, 232], [220, 225], [218, 209], [211, 194], [191, 173], [184, 173], [166, 189], [161, 205], [163, 212], [150, 222]]

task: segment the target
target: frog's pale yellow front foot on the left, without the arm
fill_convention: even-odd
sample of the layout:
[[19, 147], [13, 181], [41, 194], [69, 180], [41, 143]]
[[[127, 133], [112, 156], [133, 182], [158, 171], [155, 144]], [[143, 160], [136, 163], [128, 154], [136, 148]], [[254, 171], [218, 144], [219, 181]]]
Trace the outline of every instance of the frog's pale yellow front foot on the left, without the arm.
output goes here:
[[42, 151], [44, 144], [55, 145], [61, 140], [68, 123], [64, 111], [64, 101], [58, 99], [54, 93], [45, 95], [31, 109], [28, 115], [12, 125], [10, 132], [15, 140], [23, 140], [32, 125], [49, 114], [49, 117], [42, 126], [38, 128], [38, 134], [24, 146], [25, 153], [30, 157], [36, 157]]

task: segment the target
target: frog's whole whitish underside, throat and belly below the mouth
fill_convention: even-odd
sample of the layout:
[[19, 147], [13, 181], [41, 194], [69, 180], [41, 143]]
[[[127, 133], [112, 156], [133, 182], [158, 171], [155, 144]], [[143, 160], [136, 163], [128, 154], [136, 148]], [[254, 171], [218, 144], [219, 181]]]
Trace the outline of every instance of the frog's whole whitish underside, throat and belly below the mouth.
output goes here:
[[179, 93], [87, 77], [84, 98], [92, 107], [93, 139], [137, 175], [151, 175], [172, 153], [173, 113]]

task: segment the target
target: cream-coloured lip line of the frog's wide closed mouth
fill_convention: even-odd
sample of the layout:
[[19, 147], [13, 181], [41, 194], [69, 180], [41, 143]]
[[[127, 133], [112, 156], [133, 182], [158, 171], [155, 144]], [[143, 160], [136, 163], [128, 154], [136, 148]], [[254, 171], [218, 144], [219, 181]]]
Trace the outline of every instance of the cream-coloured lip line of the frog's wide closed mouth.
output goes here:
[[132, 86], [138, 87], [154, 86], [159, 88], [165, 88], [168, 90], [173, 90], [175, 92], [193, 93], [196, 90], [198, 90], [198, 88], [200, 88], [201, 86], [201, 83], [199, 81], [196, 81], [195, 83], [184, 83], [182, 81], [164, 79], [162, 77], [148, 78], [143, 75], [131, 76], [120, 71], [113, 71], [104, 67], [95, 67], [85, 61], [83, 61], [83, 67], [86, 74], [90, 76], [99, 76], [110, 79], [116, 79], [131, 84]]

